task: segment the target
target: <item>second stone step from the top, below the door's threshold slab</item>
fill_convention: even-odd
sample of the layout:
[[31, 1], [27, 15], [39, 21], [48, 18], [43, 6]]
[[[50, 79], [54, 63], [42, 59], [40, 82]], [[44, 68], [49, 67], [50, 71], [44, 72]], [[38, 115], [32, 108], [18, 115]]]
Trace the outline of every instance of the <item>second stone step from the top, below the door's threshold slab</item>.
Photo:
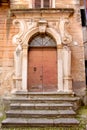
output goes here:
[[72, 103], [74, 110], [78, 109], [80, 104], [80, 100], [78, 97], [43, 97], [43, 98], [26, 98], [26, 97], [18, 97], [10, 99], [12, 103]]

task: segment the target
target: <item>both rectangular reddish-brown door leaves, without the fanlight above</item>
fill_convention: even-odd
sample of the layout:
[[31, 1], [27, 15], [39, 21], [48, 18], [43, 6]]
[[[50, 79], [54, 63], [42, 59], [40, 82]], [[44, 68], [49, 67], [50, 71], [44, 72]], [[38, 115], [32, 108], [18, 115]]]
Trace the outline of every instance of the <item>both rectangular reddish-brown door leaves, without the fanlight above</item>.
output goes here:
[[29, 91], [56, 91], [56, 48], [30, 48], [28, 57]]

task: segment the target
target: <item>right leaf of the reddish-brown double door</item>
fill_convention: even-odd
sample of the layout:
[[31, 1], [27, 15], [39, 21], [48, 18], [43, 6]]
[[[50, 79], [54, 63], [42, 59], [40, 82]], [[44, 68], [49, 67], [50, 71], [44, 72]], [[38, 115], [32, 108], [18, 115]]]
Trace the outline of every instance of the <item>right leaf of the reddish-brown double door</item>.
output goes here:
[[43, 48], [43, 89], [57, 90], [56, 48]]

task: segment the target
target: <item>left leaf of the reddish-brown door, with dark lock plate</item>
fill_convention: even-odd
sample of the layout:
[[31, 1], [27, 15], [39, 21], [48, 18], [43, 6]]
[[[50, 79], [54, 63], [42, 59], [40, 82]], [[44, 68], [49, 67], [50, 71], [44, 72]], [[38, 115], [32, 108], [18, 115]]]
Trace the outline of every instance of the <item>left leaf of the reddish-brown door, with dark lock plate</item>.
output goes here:
[[30, 48], [28, 57], [28, 89], [42, 91], [42, 49]]

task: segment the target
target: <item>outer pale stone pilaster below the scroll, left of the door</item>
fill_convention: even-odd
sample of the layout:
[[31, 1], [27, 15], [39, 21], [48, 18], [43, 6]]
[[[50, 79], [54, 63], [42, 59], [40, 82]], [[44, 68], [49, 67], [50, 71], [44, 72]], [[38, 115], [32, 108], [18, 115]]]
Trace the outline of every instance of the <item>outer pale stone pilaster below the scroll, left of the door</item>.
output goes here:
[[14, 77], [15, 87], [13, 91], [21, 90], [22, 86], [22, 46], [19, 44], [14, 52]]

